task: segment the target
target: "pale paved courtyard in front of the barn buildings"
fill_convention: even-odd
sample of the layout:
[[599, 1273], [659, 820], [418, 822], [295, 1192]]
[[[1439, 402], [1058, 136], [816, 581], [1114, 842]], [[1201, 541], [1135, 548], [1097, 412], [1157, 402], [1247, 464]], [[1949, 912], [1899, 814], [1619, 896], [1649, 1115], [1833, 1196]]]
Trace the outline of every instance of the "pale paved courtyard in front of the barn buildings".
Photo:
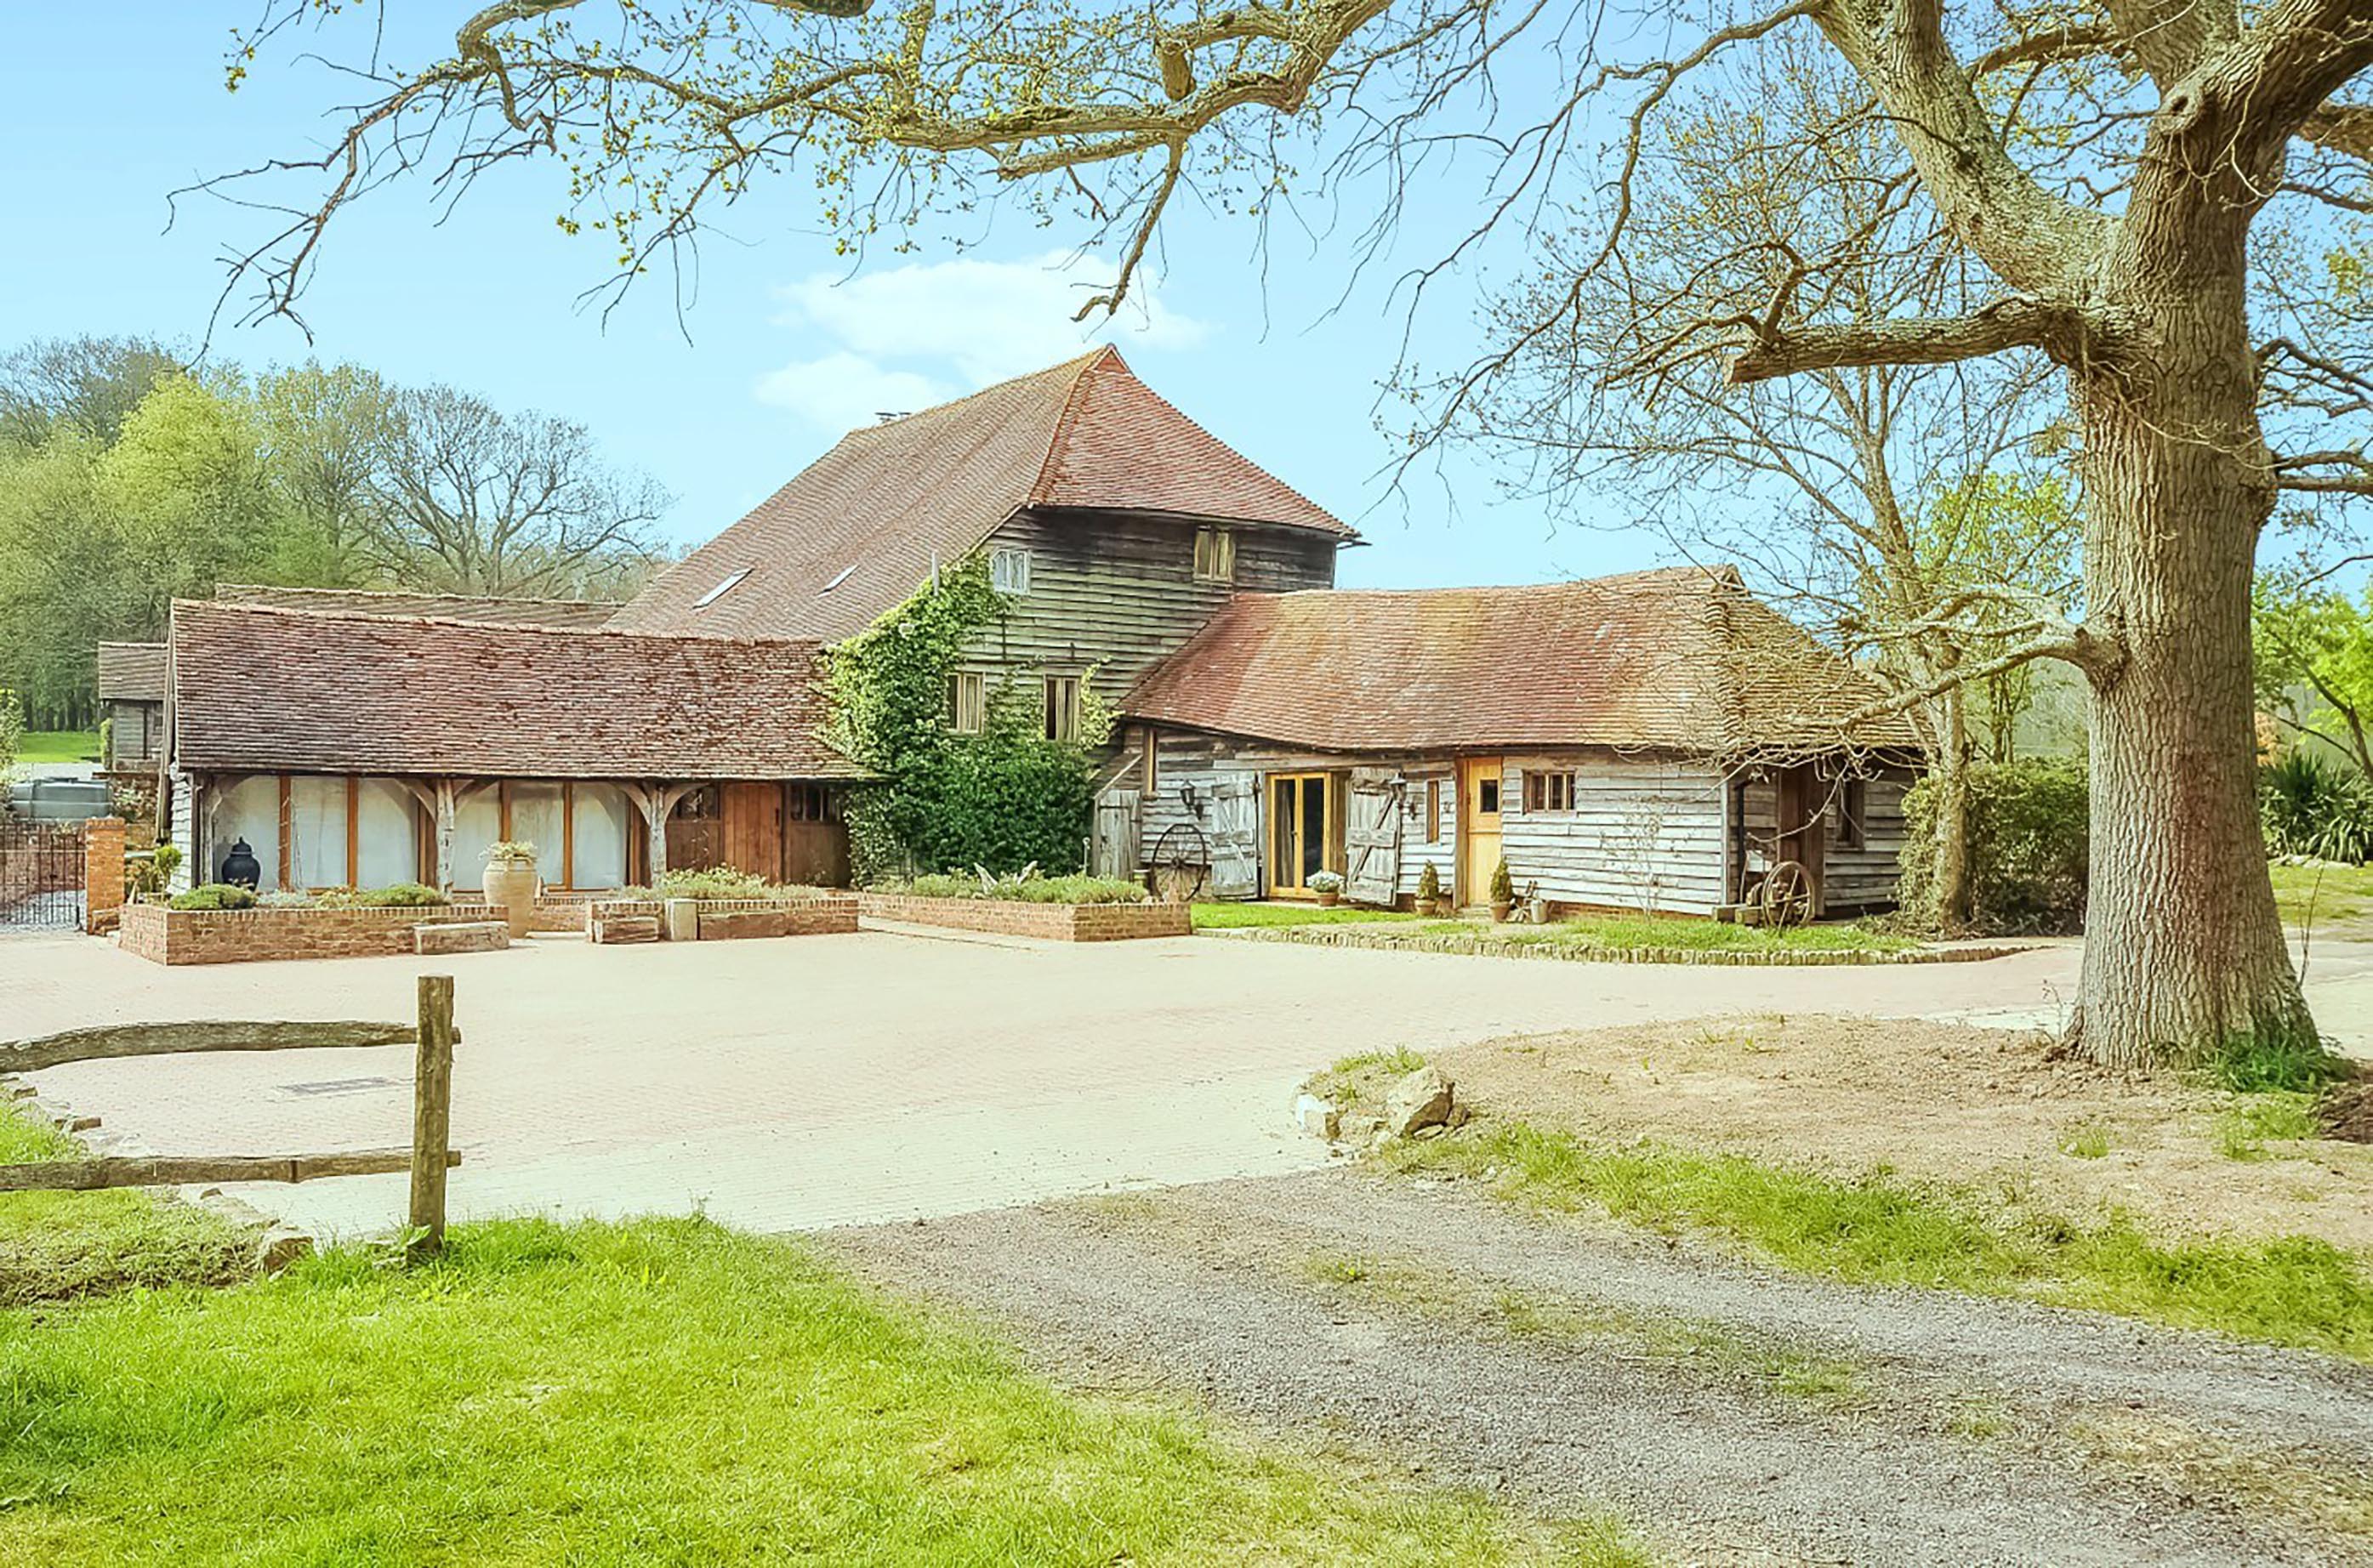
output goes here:
[[[2318, 963], [2333, 987], [2373, 968]], [[1322, 1165], [1291, 1124], [1293, 1091], [1353, 1051], [1725, 1011], [2046, 1018], [2074, 989], [2076, 951], [1682, 968], [869, 930], [166, 970], [55, 937], [0, 942], [0, 1039], [109, 1020], [408, 1018], [430, 970], [458, 977], [458, 1217], [705, 1207], [807, 1229]], [[128, 1150], [373, 1148], [411, 1129], [408, 1048], [81, 1063], [33, 1082], [104, 1117], [100, 1136]], [[242, 1196], [332, 1234], [403, 1207], [399, 1177]]]

